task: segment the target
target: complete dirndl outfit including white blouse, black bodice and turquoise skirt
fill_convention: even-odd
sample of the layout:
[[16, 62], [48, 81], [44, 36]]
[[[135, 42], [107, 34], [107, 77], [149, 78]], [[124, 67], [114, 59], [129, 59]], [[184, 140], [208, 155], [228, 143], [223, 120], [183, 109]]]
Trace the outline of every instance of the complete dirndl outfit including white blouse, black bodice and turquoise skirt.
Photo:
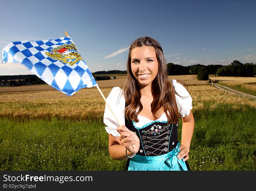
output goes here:
[[[189, 92], [176, 80], [172, 80], [175, 88], [176, 103], [182, 117], [188, 116], [192, 106]], [[165, 113], [159, 119], [152, 121], [138, 115], [139, 122], [133, 122], [125, 117], [125, 98], [120, 87], [113, 87], [106, 98], [121, 124], [134, 131], [140, 139], [140, 148], [133, 158], [127, 160], [126, 170], [190, 170], [187, 161], [178, 160], [179, 153], [178, 123], [167, 125]], [[138, 108], [136, 110], [138, 112]], [[116, 131], [119, 123], [109, 106], [105, 105], [104, 124], [107, 133], [118, 137]]]

